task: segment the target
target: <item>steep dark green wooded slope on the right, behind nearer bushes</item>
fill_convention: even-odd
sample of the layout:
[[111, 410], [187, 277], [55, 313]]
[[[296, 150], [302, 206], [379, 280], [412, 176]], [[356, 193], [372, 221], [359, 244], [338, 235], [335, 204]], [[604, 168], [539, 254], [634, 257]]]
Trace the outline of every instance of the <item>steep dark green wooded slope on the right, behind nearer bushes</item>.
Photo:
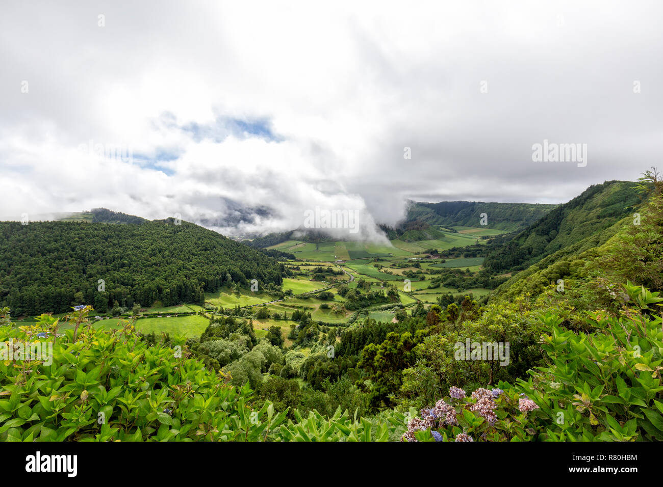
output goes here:
[[633, 214], [634, 205], [638, 203], [640, 197], [633, 182], [609, 181], [590, 186], [505, 246], [489, 252], [484, 266], [492, 272], [522, 270], [583, 239], [601, 242], [597, 237], [620, 219]]

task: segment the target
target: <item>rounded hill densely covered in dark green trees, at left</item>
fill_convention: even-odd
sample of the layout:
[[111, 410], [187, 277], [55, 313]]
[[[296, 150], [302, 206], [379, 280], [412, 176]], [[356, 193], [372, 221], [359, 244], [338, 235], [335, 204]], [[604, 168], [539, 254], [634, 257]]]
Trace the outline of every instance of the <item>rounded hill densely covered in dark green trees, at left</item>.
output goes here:
[[82, 303], [103, 313], [115, 301], [129, 307], [202, 302], [204, 292], [251, 279], [278, 285], [281, 266], [184, 221], [0, 223], [0, 305], [17, 316], [60, 313]]

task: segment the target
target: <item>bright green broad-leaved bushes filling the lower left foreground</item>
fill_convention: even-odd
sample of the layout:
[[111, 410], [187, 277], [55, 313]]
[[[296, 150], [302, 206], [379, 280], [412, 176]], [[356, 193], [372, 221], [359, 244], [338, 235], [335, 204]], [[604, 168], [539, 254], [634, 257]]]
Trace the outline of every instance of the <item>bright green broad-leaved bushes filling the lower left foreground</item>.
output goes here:
[[288, 410], [256, 405], [248, 384], [230, 385], [186, 349], [147, 345], [131, 323], [97, 331], [89, 311], [74, 311], [74, 329], [58, 334], [50, 315], [15, 327], [2, 310], [0, 339], [17, 351], [53, 343], [53, 354], [50, 365], [0, 363], [0, 441], [384, 441], [394, 429], [340, 409], [284, 423]]

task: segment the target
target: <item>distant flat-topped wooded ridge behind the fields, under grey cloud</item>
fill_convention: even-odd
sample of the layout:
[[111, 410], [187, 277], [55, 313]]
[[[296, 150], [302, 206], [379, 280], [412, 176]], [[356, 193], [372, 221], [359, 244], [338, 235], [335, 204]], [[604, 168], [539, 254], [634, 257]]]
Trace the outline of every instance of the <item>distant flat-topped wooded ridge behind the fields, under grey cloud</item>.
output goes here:
[[487, 227], [508, 232], [531, 225], [556, 205], [529, 203], [481, 203], [477, 201], [441, 201], [414, 203], [408, 208], [406, 221], [424, 221], [444, 227], [478, 227], [481, 213], [487, 215]]

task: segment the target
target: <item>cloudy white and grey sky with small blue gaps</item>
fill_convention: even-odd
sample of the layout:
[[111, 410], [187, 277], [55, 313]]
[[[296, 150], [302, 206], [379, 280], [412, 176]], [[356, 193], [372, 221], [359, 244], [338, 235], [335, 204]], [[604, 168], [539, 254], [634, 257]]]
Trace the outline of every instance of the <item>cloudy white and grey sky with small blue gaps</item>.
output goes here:
[[[3, 0], [0, 218], [107, 207], [229, 234], [316, 206], [393, 224], [407, 199], [568, 201], [661, 166], [662, 18], [656, 1]], [[544, 139], [587, 144], [587, 165], [534, 162]]]

